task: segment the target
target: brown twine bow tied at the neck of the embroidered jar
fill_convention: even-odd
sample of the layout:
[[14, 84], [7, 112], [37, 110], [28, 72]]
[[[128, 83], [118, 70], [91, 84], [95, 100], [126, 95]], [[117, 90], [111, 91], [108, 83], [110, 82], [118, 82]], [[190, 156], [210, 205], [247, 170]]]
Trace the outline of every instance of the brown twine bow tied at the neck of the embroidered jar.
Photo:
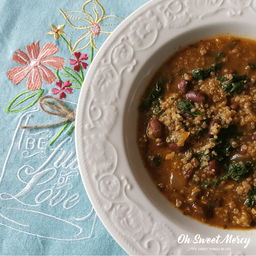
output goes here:
[[[54, 100], [55, 102], [57, 102], [59, 104], [59, 106], [56, 106], [52, 102], [50, 102], [48, 100], [45, 100], [46, 98]], [[68, 110], [68, 108], [66, 108], [64, 106], [64, 104], [62, 103], [61, 100], [58, 100], [58, 99], [56, 99], [56, 98], [54, 98], [50, 95], [45, 95], [45, 96], [41, 97], [38, 102], [39, 102], [40, 108], [45, 113], [47, 113], [49, 115], [52, 115], [52, 116], [65, 116], [66, 118], [61, 120], [58, 123], [55, 123], [55, 124], [39, 124], [39, 125], [20, 126], [20, 129], [27, 129], [27, 128], [33, 129], [33, 128], [40, 128], [40, 127], [50, 127], [50, 126], [55, 126], [55, 125], [66, 123], [68, 121], [75, 121], [76, 109], [74, 111]], [[43, 105], [55, 110], [56, 112], [51, 112], [51, 111], [46, 110]]]

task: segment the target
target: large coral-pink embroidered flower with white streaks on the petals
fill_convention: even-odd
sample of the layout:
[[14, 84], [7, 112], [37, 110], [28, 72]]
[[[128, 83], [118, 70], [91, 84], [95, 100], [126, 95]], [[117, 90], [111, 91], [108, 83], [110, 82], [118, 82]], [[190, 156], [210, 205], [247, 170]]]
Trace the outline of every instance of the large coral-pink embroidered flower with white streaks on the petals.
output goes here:
[[59, 52], [56, 44], [47, 43], [39, 52], [39, 42], [36, 42], [36, 44], [31, 43], [26, 46], [26, 50], [28, 55], [20, 49], [19, 52], [14, 52], [12, 60], [25, 66], [9, 69], [7, 71], [8, 78], [12, 80], [13, 84], [19, 84], [28, 75], [27, 88], [31, 91], [41, 88], [41, 77], [47, 84], [52, 84], [56, 76], [45, 65], [55, 69], [63, 69], [63, 65], [65, 65], [63, 58], [52, 56], [54, 53]]

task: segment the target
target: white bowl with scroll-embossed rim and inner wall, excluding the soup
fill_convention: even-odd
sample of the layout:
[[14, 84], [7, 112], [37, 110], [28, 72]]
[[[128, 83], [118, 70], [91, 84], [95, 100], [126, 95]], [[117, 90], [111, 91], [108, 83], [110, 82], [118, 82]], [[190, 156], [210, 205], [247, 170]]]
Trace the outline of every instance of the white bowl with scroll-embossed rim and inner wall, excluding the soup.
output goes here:
[[[140, 96], [169, 56], [199, 39], [256, 37], [252, 1], [199, 2], [151, 0], [133, 12], [100, 48], [80, 92], [75, 136], [81, 178], [100, 220], [128, 254], [185, 255], [191, 247], [231, 247], [231, 252], [214, 251], [220, 255], [254, 253], [254, 230], [208, 227], [180, 214], [149, 179], [137, 148]], [[182, 234], [231, 234], [252, 242], [247, 248], [237, 243], [179, 244]]]

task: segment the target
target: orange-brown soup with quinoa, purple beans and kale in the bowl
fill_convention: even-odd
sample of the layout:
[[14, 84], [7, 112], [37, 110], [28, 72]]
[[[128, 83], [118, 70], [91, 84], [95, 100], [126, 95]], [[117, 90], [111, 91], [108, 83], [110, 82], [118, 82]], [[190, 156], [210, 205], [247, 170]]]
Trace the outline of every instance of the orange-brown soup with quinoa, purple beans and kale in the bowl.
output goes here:
[[176, 52], [142, 95], [137, 142], [181, 213], [221, 228], [256, 225], [256, 42], [201, 40]]

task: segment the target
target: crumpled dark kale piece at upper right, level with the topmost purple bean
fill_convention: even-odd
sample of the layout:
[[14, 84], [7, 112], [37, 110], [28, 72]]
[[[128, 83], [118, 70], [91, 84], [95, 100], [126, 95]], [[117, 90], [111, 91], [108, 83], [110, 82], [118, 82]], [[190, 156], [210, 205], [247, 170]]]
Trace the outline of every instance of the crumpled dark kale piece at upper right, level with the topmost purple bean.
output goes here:
[[236, 75], [233, 74], [233, 79], [229, 83], [222, 83], [220, 84], [223, 88], [223, 90], [226, 92], [226, 94], [230, 93], [231, 95], [235, 93], [241, 93], [243, 91], [243, 87], [245, 84], [245, 81], [248, 80], [248, 77], [246, 75]]

